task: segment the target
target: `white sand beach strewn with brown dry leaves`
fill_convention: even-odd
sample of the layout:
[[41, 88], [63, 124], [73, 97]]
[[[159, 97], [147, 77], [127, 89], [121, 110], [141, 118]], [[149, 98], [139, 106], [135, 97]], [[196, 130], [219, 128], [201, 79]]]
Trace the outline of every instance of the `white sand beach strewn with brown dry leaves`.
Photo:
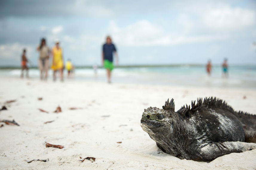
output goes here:
[[[0, 123], [0, 169], [256, 169], [256, 149], [211, 162], [180, 160], [163, 153], [140, 127], [144, 108], [161, 108], [168, 98], [174, 98], [175, 111], [198, 97], [216, 96], [234, 110], [256, 114], [256, 89], [3, 77], [0, 82], [0, 106], [7, 107], [0, 119], [20, 125]], [[62, 112], [53, 112], [57, 106]], [[64, 148], [46, 148], [45, 142]], [[96, 159], [82, 162], [79, 156]]]

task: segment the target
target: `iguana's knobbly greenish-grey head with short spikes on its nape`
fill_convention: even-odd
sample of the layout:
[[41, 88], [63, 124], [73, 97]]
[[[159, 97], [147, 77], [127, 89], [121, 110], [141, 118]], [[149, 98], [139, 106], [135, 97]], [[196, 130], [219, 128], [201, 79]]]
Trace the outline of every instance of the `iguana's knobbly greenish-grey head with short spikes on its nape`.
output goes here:
[[150, 136], [152, 134], [165, 134], [172, 132], [172, 113], [174, 113], [173, 99], [165, 102], [163, 109], [149, 107], [144, 109], [140, 126]]

